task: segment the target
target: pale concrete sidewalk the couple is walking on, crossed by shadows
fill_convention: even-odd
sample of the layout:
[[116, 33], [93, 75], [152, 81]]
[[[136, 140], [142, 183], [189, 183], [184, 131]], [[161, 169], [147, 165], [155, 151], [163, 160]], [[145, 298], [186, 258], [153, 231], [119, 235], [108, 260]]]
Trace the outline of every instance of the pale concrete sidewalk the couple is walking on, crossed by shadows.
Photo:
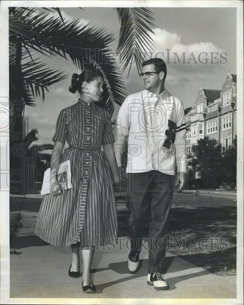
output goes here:
[[[22, 202], [10, 199], [10, 212], [18, 213]], [[85, 298], [236, 298], [236, 276], [213, 275], [170, 253], [166, 254], [163, 272], [170, 289], [155, 290], [147, 285], [147, 250], [141, 252], [140, 270], [136, 274], [127, 271], [129, 251], [125, 243], [128, 237], [123, 231], [120, 231], [120, 243], [115, 249], [95, 250], [92, 280], [97, 290], [85, 294], [81, 288], [82, 274], [79, 278], [68, 276], [70, 247], [51, 246], [34, 235], [40, 204], [41, 197], [27, 196], [22, 205], [20, 222], [23, 228], [17, 229], [11, 244], [18, 255], [10, 255], [10, 298], [78, 298], [79, 303], [85, 303]]]

